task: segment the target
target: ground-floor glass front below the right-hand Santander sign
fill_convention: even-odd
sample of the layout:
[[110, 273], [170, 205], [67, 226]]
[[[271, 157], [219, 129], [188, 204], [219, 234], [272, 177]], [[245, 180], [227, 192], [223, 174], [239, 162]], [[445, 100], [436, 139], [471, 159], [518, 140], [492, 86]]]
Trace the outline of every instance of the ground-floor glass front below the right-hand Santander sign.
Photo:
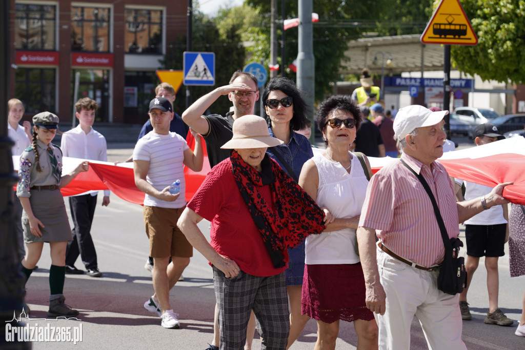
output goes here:
[[[89, 97], [97, 101], [99, 109], [95, 121], [108, 122], [109, 117], [109, 70], [106, 69], [74, 69], [71, 71], [71, 97], [75, 99], [75, 76], [80, 72], [77, 99]], [[72, 101], [73, 105], [77, 101]]]

